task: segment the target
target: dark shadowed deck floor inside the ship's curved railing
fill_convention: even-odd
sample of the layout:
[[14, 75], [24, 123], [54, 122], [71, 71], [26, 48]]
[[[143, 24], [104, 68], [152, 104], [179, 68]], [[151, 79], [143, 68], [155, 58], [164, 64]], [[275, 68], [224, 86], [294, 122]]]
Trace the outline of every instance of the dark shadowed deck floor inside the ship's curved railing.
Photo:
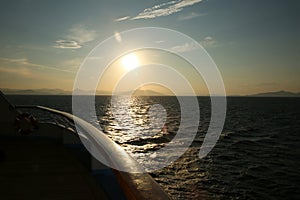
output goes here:
[[101, 187], [61, 143], [0, 140], [0, 199], [106, 199]]

